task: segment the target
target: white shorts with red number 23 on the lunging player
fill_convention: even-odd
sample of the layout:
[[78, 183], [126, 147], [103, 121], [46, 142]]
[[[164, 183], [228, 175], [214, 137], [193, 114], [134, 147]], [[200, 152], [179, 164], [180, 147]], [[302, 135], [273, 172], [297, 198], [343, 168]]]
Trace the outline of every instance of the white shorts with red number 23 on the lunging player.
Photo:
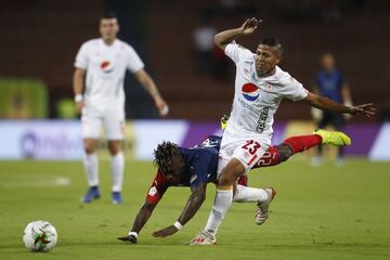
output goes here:
[[242, 138], [221, 144], [217, 176], [232, 158], [238, 159], [245, 167], [245, 174], [256, 165], [269, 148], [261, 138]]

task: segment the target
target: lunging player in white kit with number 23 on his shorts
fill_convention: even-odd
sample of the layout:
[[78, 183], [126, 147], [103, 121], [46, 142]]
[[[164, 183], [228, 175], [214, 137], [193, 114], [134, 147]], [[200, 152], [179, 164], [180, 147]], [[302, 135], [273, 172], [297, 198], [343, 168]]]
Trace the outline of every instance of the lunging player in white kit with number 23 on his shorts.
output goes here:
[[[233, 108], [222, 138], [218, 166], [218, 191], [208, 222], [190, 245], [216, 243], [217, 230], [226, 214], [233, 198], [233, 184], [246, 174], [271, 144], [273, 116], [283, 98], [303, 101], [311, 106], [330, 112], [365, 116], [374, 115], [373, 104], [343, 106], [327, 98], [313, 94], [277, 64], [283, 48], [275, 38], [262, 40], [256, 53], [237, 44], [234, 40], [251, 35], [259, 21], [247, 20], [240, 27], [214, 36], [216, 44], [236, 65]], [[261, 223], [268, 218], [268, 207], [274, 191], [266, 191], [269, 197], [259, 203]]]

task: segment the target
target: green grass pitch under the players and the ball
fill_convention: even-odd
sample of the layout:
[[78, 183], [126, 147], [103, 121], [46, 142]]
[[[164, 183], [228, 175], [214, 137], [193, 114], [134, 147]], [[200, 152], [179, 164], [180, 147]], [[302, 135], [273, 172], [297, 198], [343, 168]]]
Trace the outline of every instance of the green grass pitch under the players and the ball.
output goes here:
[[[190, 188], [168, 190], [139, 244], [125, 235], [155, 174], [151, 162], [127, 161], [123, 204], [110, 204], [109, 162], [101, 161], [102, 198], [81, 205], [87, 181], [81, 162], [0, 161], [0, 259], [390, 259], [390, 164], [347, 160], [342, 168], [318, 168], [306, 160], [249, 173], [252, 186], [276, 188], [271, 216], [257, 226], [253, 204], [233, 204], [218, 245], [187, 243], [207, 221], [216, 188], [180, 232], [154, 238], [152, 232], [174, 223]], [[28, 252], [22, 236], [32, 220], [48, 220], [58, 244], [48, 253]]]

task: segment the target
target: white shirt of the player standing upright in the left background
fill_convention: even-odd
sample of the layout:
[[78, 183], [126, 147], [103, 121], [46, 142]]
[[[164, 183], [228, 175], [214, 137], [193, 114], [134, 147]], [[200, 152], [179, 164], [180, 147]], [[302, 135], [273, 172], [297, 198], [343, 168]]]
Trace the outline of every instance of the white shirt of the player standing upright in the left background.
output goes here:
[[87, 69], [87, 107], [117, 110], [125, 107], [126, 69], [135, 73], [143, 69], [144, 64], [134, 49], [121, 40], [107, 46], [103, 39], [92, 39], [81, 46], [75, 67]]

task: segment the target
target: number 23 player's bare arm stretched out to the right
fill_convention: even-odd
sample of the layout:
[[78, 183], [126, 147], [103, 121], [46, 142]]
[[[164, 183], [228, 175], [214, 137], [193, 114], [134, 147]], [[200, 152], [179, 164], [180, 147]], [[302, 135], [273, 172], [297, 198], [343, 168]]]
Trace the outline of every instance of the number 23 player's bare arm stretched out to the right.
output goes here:
[[363, 115], [366, 117], [370, 117], [375, 115], [375, 107], [373, 103], [368, 103], [364, 105], [355, 105], [355, 106], [344, 106], [325, 96], [313, 94], [311, 92], [308, 93], [308, 96], [303, 101], [309, 103], [311, 106], [314, 106], [323, 110], [350, 114], [353, 116]]

